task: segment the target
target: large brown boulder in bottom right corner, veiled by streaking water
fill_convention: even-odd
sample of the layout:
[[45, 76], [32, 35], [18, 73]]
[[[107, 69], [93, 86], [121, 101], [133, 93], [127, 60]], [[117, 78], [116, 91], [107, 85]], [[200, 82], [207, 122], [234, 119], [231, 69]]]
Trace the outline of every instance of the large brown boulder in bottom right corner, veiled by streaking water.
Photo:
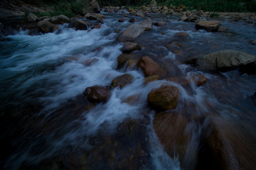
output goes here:
[[199, 170], [253, 170], [256, 167], [255, 149], [248, 144], [251, 138], [239, 128], [223, 118], [209, 120], [208, 127], [202, 131]]

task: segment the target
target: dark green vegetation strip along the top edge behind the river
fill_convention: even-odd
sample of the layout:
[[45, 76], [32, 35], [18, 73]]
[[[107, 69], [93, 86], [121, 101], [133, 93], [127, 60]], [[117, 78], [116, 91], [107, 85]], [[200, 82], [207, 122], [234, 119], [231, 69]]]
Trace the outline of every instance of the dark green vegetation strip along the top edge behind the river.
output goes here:
[[[33, 4], [75, 4], [73, 6], [89, 5], [89, 0], [23, 0]], [[151, 0], [97, 0], [100, 7], [104, 6], [125, 6], [137, 7], [149, 5]], [[171, 7], [185, 5], [185, 7], [212, 12], [256, 12], [256, 0], [156, 0], [158, 5]], [[76, 5], [79, 4], [79, 5]]]

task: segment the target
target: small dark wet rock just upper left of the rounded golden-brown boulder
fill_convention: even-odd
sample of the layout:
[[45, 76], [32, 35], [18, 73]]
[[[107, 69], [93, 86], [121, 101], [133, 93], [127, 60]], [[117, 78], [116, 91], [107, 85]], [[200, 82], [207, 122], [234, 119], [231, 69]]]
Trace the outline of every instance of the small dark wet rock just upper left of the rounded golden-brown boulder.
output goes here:
[[133, 76], [130, 74], [124, 74], [122, 76], [117, 76], [113, 79], [110, 87], [115, 88], [115, 87], [120, 87], [122, 88], [125, 85], [128, 85], [132, 83], [133, 81]]

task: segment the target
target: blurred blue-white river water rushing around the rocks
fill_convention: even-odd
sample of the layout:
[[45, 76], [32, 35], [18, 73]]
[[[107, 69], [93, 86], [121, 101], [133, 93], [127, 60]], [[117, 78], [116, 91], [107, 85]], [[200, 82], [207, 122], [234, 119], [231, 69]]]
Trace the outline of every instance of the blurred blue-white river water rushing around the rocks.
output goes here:
[[[256, 151], [256, 103], [252, 100], [256, 76], [237, 70], [207, 72], [183, 64], [224, 49], [256, 55], [255, 45], [248, 43], [256, 39], [256, 27], [221, 20], [228, 31], [210, 33], [178, 17], [152, 16], [153, 22], [164, 19], [166, 26], [153, 26], [137, 38], [134, 42], [143, 49], [134, 53], [151, 56], [174, 79], [147, 85], [140, 69], [116, 69], [123, 43], [116, 41], [114, 31], [131, 24], [118, 22], [121, 13], [106, 14], [102, 27], [90, 32], [64, 24], [56, 33], [30, 36], [20, 30], [0, 39], [1, 169], [197, 169], [199, 138], [207, 119], [187, 125], [190, 142], [183, 159], [187, 163], [180, 166], [179, 155], [168, 155], [155, 134], [156, 112], [147, 105], [148, 93], [162, 84], [180, 90], [174, 112], [225, 119], [239, 129], [238, 136], [243, 134], [243, 143]], [[190, 37], [173, 36], [180, 31]], [[169, 42], [182, 46], [171, 52], [166, 48]], [[133, 82], [112, 89], [107, 102], [94, 104], [83, 96], [86, 87], [109, 86], [124, 72], [134, 77]], [[179, 81], [190, 80], [194, 73], [207, 76], [206, 85]], [[133, 104], [124, 102], [130, 96], [136, 96]]]

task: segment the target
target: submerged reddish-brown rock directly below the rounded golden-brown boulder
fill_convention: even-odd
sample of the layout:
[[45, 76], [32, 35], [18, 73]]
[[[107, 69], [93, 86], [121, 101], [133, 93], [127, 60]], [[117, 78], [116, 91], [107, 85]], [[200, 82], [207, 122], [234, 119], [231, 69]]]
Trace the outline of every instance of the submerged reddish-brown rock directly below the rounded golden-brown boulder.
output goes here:
[[188, 134], [186, 127], [189, 124], [188, 119], [179, 113], [165, 112], [155, 114], [154, 130], [158, 136], [164, 150], [171, 156], [179, 156], [181, 166], [188, 148]]

